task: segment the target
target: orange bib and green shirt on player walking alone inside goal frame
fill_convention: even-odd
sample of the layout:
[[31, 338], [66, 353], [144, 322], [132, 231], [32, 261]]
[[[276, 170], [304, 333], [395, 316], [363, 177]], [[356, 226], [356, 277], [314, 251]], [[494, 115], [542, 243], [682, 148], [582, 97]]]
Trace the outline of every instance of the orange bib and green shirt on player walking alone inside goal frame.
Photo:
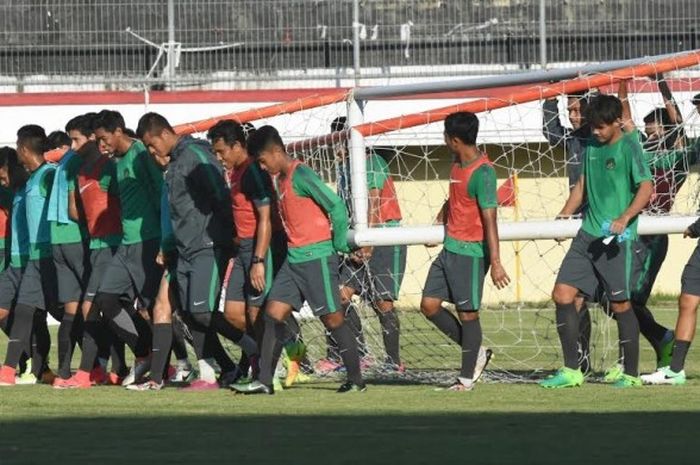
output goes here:
[[496, 207], [496, 171], [488, 157], [482, 154], [468, 163], [454, 163], [450, 171], [445, 249], [460, 255], [483, 257], [481, 210]]

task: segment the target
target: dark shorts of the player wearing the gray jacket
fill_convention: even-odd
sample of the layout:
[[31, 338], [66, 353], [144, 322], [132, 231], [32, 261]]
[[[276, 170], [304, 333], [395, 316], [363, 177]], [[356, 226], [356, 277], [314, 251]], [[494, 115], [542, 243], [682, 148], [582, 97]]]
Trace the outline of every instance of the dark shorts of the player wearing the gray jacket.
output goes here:
[[205, 313], [219, 308], [226, 258], [214, 249], [200, 250], [191, 257], [178, 257], [175, 276], [183, 311]]

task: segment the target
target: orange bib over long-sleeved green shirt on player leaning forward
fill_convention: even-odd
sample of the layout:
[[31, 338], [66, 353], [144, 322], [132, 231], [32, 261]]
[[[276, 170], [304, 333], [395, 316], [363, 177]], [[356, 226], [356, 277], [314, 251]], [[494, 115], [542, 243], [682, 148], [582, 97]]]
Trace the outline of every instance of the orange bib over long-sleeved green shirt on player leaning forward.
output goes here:
[[343, 200], [311, 168], [293, 160], [289, 172], [275, 179], [275, 189], [290, 263], [347, 250], [348, 213]]

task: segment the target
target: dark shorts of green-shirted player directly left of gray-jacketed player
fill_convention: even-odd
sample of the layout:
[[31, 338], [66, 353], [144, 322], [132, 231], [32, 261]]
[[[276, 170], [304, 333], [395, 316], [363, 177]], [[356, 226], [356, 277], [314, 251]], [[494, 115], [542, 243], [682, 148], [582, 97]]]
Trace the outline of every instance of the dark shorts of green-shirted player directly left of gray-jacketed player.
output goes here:
[[103, 274], [98, 292], [127, 295], [150, 309], [155, 302], [163, 268], [156, 263], [160, 239], [120, 245]]

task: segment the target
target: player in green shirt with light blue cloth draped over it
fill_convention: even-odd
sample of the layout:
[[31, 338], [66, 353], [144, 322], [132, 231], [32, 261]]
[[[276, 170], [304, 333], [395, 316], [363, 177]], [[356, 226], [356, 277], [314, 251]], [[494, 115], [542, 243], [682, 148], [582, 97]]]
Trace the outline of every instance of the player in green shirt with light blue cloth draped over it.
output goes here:
[[[71, 128], [70, 122], [67, 128]], [[57, 147], [68, 148], [72, 144], [68, 134], [55, 131], [49, 136], [56, 139]], [[64, 312], [58, 329], [58, 377], [68, 379], [71, 376], [71, 360], [75, 337], [74, 321], [83, 298], [89, 267], [89, 251], [86, 244], [84, 228], [69, 215], [69, 191], [76, 183], [76, 176], [82, 158], [74, 150], [67, 150], [56, 166], [54, 183], [49, 196], [47, 218], [51, 223], [51, 244], [58, 282], [58, 302], [63, 304]], [[80, 327], [76, 325], [76, 329]]]

